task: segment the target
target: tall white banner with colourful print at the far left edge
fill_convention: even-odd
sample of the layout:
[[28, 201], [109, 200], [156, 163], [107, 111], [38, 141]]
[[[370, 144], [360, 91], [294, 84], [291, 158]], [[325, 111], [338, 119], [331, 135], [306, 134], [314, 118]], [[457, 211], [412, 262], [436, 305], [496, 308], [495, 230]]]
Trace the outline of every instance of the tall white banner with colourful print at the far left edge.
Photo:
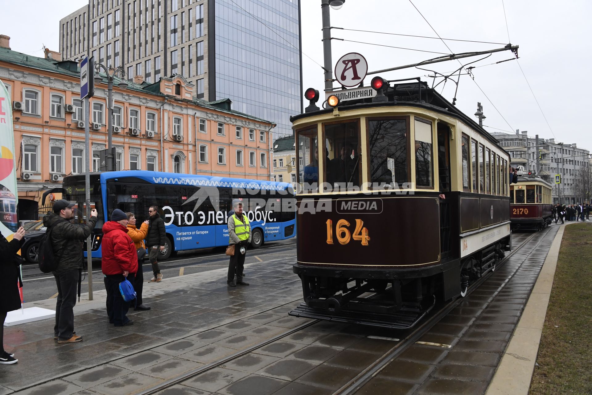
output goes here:
[[0, 232], [8, 240], [18, 229], [17, 199], [12, 103], [4, 82], [0, 80]]

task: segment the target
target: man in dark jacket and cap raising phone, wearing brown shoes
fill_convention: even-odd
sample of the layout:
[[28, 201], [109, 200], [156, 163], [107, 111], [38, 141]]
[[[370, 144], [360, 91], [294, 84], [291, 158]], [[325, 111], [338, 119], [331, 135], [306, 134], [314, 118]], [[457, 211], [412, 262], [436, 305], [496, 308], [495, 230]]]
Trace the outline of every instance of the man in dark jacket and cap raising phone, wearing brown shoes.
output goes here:
[[57, 284], [56, 325], [53, 338], [58, 343], [75, 343], [82, 336], [74, 334], [74, 311], [76, 304], [76, 284], [82, 273], [84, 251], [82, 241], [91, 235], [96, 224], [96, 210], [91, 211], [91, 218], [85, 225], [72, 224], [76, 203], [60, 199], [53, 204], [53, 212], [47, 213], [43, 224], [47, 232], [52, 232], [50, 242], [53, 256], [57, 260], [57, 269], [53, 272]]

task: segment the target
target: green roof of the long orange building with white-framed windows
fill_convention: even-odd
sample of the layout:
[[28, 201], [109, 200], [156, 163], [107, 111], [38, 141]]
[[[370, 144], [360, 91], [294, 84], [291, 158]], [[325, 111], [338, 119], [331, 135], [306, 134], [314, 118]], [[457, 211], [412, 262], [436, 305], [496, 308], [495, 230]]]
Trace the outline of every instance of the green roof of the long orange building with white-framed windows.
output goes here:
[[[74, 71], [73, 69], [75, 68], [75, 62], [72, 62], [70, 60], [64, 60], [62, 62], [58, 62], [57, 60], [49, 60], [49, 59], [45, 59], [44, 57], [30, 56], [25, 53], [16, 52], [16, 51], [10, 50], [8, 48], [0, 47], [0, 62], [7, 62], [7, 63], [12, 63], [14, 65], [21, 65], [21, 66], [25, 66], [28, 68], [45, 70], [45, 71], [49, 71], [49, 72], [60, 73], [60, 74], [80, 78], [80, 69], [78, 67], [76, 67], [76, 71]], [[99, 74], [104, 78], [104, 81], [106, 82], [105, 73], [99, 73]], [[120, 81], [121, 81], [120, 78], [114, 77], [113, 84], [117, 85]], [[160, 92], [160, 82], [155, 82], [153, 84], [146, 84], [146, 83], [136, 84], [132, 81], [126, 81], [126, 82], [127, 82], [127, 89], [130, 89], [132, 91], [148, 93], [151, 95], [159, 96], [161, 98], [164, 98], [166, 96], [166, 95], [162, 94], [162, 92]], [[250, 120], [253, 120], [253, 121], [273, 124], [271, 121], [264, 120], [263, 118], [253, 117], [253, 115], [244, 114], [244, 113], [241, 113], [240, 111], [234, 111], [231, 109], [227, 110], [226, 108], [224, 108], [225, 106], [221, 105], [221, 104], [224, 104], [224, 103], [230, 101], [230, 99], [220, 99], [220, 100], [208, 102], [208, 101], [205, 101], [202, 99], [192, 98], [190, 100], [184, 99], [183, 101], [188, 102], [188, 103], [192, 103], [195, 105], [199, 105], [201, 107], [210, 108], [211, 110], [221, 111], [223, 113], [229, 113], [229, 114], [234, 114], [234, 115], [237, 115], [240, 117], [249, 118]]]

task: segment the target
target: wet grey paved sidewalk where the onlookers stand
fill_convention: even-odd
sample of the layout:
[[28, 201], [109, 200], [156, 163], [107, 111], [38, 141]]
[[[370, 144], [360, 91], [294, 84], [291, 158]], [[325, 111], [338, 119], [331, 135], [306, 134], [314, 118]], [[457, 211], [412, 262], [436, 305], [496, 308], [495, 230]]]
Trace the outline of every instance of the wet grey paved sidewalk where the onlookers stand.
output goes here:
[[[157, 347], [159, 352], [179, 355], [190, 351], [191, 347], [197, 349], [204, 343], [191, 339], [182, 341], [187, 344], [177, 345], [173, 352], [167, 350], [166, 345], [240, 319], [254, 322], [263, 320], [268, 326], [275, 326], [276, 333], [299, 325], [303, 320], [287, 315], [292, 306], [300, 303], [302, 298], [300, 279], [292, 273], [294, 260], [295, 256], [289, 255], [282, 259], [245, 265], [245, 280], [251, 284], [248, 287], [227, 287], [226, 268], [165, 278], [159, 283], [146, 283], [144, 303], [152, 307], [152, 310], [130, 309], [128, 317], [134, 320], [134, 325], [126, 327], [114, 327], [107, 322], [104, 289], [94, 292], [93, 301], [86, 300], [88, 294], [83, 294], [81, 302], [75, 307], [75, 330], [84, 337], [84, 341], [79, 343], [58, 344], [53, 339], [53, 319], [5, 327], [5, 348], [14, 352], [19, 362], [0, 368], [0, 395], [23, 388], [28, 389], [19, 393], [78, 393], [91, 384], [97, 386], [137, 371], [135, 368], [130, 370], [117, 367], [120, 359]], [[25, 307], [54, 309], [55, 303], [55, 299], [48, 299], [27, 303]], [[281, 307], [284, 304], [288, 306]], [[260, 314], [263, 311], [267, 313]], [[227, 330], [233, 335], [231, 328]], [[229, 350], [236, 351], [231, 348]], [[88, 371], [89, 368], [108, 362], [113, 362], [114, 365], [104, 365]], [[186, 371], [201, 365], [197, 362], [185, 362], [182, 367], [176, 367], [176, 370]], [[129, 367], [126, 364], [123, 366]], [[107, 370], [104, 371], [105, 369]], [[97, 370], [99, 373], [96, 373]], [[82, 371], [85, 372], [78, 373]], [[78, 378], [52, 381], [57, 377], [76, 373]], [[170, 374], [172, 373], [169, 372]], [[137, 380], [134, 385], [137, 390], [160, 380], [153, 375], [133, 376]], [[116, 384], [114, 386], [117, 387]], [[94, 388], [93, 391], [119, 393], [115, 387], [104, 387], [102, 390]], [[83, 393], [88, 394], [88, 391]]]

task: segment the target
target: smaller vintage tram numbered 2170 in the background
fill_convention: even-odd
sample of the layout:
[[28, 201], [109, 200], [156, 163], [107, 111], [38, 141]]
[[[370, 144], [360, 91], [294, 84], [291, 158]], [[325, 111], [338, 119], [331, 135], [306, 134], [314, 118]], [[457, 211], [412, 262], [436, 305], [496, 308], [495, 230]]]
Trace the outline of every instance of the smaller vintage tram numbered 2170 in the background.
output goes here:
[[512, 229], [541, 230], [551, 224], [552, 187], [530, 172], [518, 174], [510, 185], [510, 221]]

